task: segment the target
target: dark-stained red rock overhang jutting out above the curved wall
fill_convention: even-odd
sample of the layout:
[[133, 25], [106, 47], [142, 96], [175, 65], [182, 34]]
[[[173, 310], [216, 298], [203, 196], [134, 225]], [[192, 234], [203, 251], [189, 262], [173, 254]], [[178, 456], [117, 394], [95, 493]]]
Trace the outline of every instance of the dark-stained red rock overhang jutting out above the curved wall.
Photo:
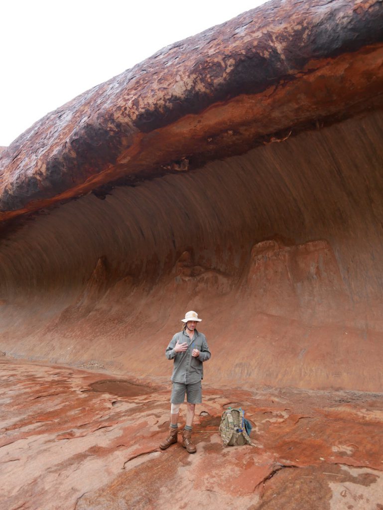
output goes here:
[[383, 105], [381, 0], [272, 0], [90, 89], [1, 153], [0, 219]]

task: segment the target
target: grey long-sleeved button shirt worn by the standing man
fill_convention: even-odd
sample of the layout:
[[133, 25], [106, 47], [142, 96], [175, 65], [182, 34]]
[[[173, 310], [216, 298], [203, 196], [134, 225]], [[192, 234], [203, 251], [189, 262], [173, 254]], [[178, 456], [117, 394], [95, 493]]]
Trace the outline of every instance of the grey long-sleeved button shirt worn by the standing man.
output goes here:
[[[187, 342], [188, 349], [185, 352], [175, 352], [174, 346]], [[192, 350], [198, 349], [199, 356], [194, 358]], [[185, 331], [176, 333], [166, 347], [166, 358], [174, 360], [172, 382], [184, 382], [185, 384], [193, 384], [203, 379], [203, 362], [210, 359], [211, 353], [205, 335], [194, 330], [194, 336], [190, 340], [189, 335]]]

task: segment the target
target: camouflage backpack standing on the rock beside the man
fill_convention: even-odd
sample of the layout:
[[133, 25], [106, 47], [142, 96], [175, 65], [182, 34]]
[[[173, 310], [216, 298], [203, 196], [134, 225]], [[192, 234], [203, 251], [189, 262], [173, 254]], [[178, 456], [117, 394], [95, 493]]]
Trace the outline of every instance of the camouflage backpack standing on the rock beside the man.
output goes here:
[[[247, 429], [247, 430], [246, 430]], [[222, 413], [221, 424], [219, 425], [223, 446], [237, 446], [249, 444], [256, 446], [251, 442], [249, 433], [251, 425], [245, 419], [245, 412], [240, 407], [228, 407]]]

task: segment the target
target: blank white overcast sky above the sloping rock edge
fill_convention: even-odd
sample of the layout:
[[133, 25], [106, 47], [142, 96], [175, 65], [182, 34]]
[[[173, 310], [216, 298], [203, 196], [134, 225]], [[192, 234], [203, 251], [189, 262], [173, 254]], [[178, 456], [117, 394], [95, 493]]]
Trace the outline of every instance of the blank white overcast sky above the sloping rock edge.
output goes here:
[[14, 0], [1, 13], [0, 146], [158, 49], [265, 0]]

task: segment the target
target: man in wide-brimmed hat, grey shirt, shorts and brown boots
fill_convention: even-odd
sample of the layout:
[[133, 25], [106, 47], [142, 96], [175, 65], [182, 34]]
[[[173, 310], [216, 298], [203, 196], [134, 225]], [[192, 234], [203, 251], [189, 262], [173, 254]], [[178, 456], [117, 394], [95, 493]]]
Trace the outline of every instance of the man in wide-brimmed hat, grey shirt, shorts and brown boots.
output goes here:
[[192, 424], [194, 419], [195, 404], [202, 402], [203, 362], [210, 359], [210, 350], [205, 335], [197, 331], [198, 319], [196, 312], [187, 312], [185, 319], [181, 319], [184, 327], [180, 333], [176, 333], [166, 348], [165, 354], [168, 360], [174, 360], [173, 374], [171, 376], [171, 409], [170, 409], [170, 433], [160, 444], [165, 450], [177, 442], [178, 413], [180, 405], [187, 400], [186, 425], [182, 433], [182, 446], [189, 453], [195, 453], [196, 448], [191, 441]]

